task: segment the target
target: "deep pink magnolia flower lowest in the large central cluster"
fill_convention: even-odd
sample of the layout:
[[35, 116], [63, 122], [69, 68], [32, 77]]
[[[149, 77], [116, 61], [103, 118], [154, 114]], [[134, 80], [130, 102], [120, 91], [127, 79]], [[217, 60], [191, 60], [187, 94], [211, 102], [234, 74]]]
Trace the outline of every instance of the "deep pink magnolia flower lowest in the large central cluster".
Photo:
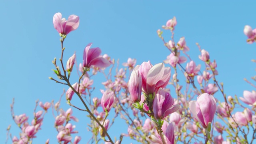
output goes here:
[[164, 119], [179, 108], [179, 104], [174, 105], [174, 99], [169, 92], [165, 92], [162, 88], [158, 90], [153, 101], [153, 111], [156, 119]]

